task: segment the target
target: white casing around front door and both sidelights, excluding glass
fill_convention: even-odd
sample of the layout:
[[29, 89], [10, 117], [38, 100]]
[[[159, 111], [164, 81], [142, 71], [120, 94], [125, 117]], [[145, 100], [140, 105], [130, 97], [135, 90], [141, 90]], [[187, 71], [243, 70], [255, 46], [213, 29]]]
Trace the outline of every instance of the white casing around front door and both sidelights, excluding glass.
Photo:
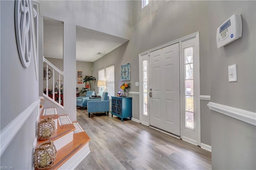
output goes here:
[[[194, 113], [195, 113], [195, 125], [194, 128], [196, 129], [195, 132], [193, 132], [190, 129], [184, 130], [184, 121], [186, 120], [186, 117], [184, 115], [185, 113], [185, 106], [184, 106], [184, 101], [185, 101], [185, 83], [184, 83], [184, 60], [182, 60], [182, 45], [184, 45], [184, 42], [194, 39]], [[143, 115], [143, 88], [142, 88], [142, 80], [143, 80], [143, 71], [142, 71], [142, 60], [146, 59], [149, 61], [148, 54], [151, 53], [152, 51], [156, 51], [158, 49], [162, 49], [164, 47], [173, 45], [175, 43], [180, 43], [180, 138], [183, 140], [186, 140], [190, 143], [196, 144], [200, 146], [201, 142], [201, 124], [200, 124], [200, 53], [199, 53], [199, 32], [195, 32], [193, 34], [190, 34], [188, 36], [182, 37], [178, 40], [174, 40], [172, 42], [160, 45], [158, 47], [155, 47], [153, 49], [150, 49], [148, 51], [144, 51], [139, 54], [139, 67], [140, 67], [140, 123], [149, 126], [150, 124], [150, 109], [148, 107], [148, 115], [145, 116]], [[184, 57], [184, 55], [183, 55]], [[149, 65], [149, 64], [148, 64]], [[148, 80], [149, 80], [149, 75], [148, 75]], [[148, 81], [148, 93], [150, 92], [150, 87], [149, 87], [149, 81]], [[148, 96], [148, 100], [149, 100]], [[148, 101], [149, 104], [149, 101]], [[183, 132], [185, 131], [185, 132]], [[189, 133], [192, 132], [190, 135]], [[191, 136], [194, 135], [194, 139], [191, 140]]]

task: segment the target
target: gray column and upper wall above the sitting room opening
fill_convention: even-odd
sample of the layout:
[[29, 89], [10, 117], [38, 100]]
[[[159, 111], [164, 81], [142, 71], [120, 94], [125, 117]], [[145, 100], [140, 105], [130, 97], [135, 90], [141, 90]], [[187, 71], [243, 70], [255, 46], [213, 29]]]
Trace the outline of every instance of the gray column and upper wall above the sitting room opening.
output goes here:
[[[130, 1], [40, 1], [42, 16], [64, 22], [64, 112], [71, 121], [76, 121], [76, 26], [128, 38], [131, 4]], [[39, 54], [40, 60], [42, 55]]]

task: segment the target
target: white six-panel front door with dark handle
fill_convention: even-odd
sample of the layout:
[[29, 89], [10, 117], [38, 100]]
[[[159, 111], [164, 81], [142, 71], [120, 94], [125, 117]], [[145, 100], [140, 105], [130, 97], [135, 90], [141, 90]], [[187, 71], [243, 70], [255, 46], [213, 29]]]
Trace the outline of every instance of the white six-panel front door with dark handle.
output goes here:
[[150, 53], [148, 87], [150, 125], [180, 136], [179, 43]]

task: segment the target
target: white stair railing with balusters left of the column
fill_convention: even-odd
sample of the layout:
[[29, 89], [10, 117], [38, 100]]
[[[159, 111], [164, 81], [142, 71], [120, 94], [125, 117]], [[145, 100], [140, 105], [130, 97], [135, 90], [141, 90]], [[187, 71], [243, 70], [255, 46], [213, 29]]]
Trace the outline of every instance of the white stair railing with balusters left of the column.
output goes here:
[[[46, 63], [46, 92], [43, 93], [44, 96], [46, 96], [49, 100], [52, 99], [53, 103], [58, 103], [60, 105], [60, 107], [63, 107], [63, 96], [61, 97], [61, 94], [63, 95], [63, 71], [60, 71], [60, 69], [58, 69], [55, 65], [53, 65], [50, 61], [48, 61], [46, 58], [44, 58], [43, 56], [43, 62]], [[49, 71], [49, 66], [52, 67], [52, 98], [49, 97], [49, 78], [48, 78], [48, 71]], [[55, 73], [58, 76], [58, 82], [56, 82], [56, 84], [54, 83], [54, 77], [55, 77]], [[60, 78], [62, 78], [62, 84], [61, 84], [61, 80]], [[55, 101], [55, 94], [58, 94], [58, 102]], [[61, 103], [61, 99], [62, 99], [62, 103]]]

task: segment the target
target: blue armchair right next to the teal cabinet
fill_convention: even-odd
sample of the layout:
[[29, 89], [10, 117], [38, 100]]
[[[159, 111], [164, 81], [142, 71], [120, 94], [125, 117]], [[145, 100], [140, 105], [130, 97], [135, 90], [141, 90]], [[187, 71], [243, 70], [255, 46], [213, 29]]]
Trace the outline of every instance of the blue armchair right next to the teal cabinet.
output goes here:
[[93, 112], [107, 112], [109, 113], [109, 97], [108, 92], [104, 92], [101, 99], [89, 99], [87, 100], [87, 111], [90, 114]]

